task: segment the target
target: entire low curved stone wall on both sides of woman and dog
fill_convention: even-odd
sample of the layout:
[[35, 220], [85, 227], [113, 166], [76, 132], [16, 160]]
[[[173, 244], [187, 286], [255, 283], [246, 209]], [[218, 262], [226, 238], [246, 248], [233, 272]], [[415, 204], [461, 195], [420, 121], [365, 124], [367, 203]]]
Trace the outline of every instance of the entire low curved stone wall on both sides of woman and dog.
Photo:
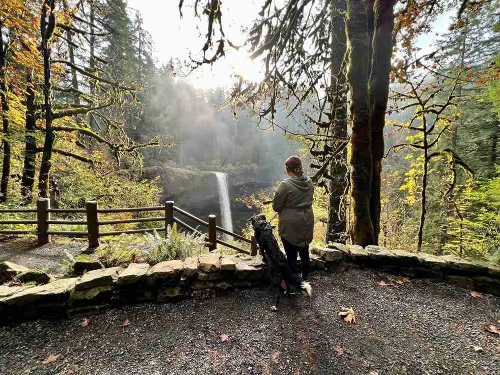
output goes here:
[[[311, 268], [339, 270], [349, 265], [375, 267], [409, 277], [430, 277], [459, 286], [500, 295], [500, 268], [455, 256], [434, 256], [378, 246], [331, 243], [311, 249]], [[0, 263], [14, 281], [24, 267]], [[90, 314], [111, 306], [164, 302], [180, 298], [204, 299], [232, 288], [265, 282], [260, 257], [229, 257], [213, 252], [184, 261], [153, 266], [132, 263], [126, 268], [94, 269], [80, 277], [41, 285], [0, 285], [0, 322], [40, 317]]]

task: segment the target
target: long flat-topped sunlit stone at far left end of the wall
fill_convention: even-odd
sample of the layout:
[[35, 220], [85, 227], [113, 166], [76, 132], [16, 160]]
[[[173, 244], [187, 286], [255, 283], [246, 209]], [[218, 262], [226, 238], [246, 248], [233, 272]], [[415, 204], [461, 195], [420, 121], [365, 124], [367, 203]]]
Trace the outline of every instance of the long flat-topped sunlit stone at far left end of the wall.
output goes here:
[[6, 305], [35, 306], [37, 304], [65, 303], [69, 299], [69, 293], [73, 290], [77, 278], [62, 278], [49, 282], [48, 284], [26, 288], [18, 293], [6, 297], [3, 302]]

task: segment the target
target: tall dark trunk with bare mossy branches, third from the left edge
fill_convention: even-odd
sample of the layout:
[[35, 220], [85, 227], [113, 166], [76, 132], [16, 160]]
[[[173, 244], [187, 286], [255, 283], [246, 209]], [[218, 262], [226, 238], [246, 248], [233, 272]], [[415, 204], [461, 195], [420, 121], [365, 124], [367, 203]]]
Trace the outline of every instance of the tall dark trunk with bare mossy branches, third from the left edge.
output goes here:
[[[47, 5], [49, 6], [48, 21]], [[41, 198], [49, 197], [49, 172], [52, 159], [52, 147], [55, 134], [52, 129], [52, 99], [51, 99], [51, 63], [50, 63], [50, 38], [55, 28], [54, 15], [55, 0], [47, 0], [42, 5], [40, 17], [41, 54], [43, 56], [43, 100], [45, 110], [45, 141], [41, 157], [40, 173], [38, 177], [38, 194]]]

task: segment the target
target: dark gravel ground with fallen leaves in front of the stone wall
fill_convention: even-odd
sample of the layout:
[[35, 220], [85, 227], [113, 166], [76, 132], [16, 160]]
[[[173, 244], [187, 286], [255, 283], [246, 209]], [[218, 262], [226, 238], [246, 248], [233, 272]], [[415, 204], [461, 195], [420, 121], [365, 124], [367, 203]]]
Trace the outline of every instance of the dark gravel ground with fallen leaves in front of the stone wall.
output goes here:
[[[5, 374], [498, 374], [498, 298], [429, 280], [393, 288], [384, 274], [319, 273], [315, 297], [269, 311], [269, 289], [193, 304], [143, 304], [0, 327]], [[357, 324], [343, 322], [352, 306]], [[120, 326], [125, 320], [129, 325]], [[220, 336], [220, 334], [223, 334]], [[224, 336], [227, 335], [227, 336]], [[227, 339], [225, 339], [227, 338]], [[336, 355], [335, 346], [343, 354]], [[474, 351], [471, 345], [482, 347]], [[41, 361], [58, 357], [49, 364]]]

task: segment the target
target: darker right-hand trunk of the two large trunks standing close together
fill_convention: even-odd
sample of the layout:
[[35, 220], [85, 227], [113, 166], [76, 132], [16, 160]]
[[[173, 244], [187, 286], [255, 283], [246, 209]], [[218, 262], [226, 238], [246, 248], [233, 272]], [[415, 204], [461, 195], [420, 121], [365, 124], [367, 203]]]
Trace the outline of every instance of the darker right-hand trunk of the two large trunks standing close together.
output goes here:
[[374, 33], [372, 66], [369, 78], [371, 106], [371, 171], [370, 217], [374, 243], [380, 232], [380, 178], [383, 157], [383, 127], [389, 95], [390, 58], [392, 56], [392, 29], [394, 28], [395, 0], [375, 0], [373, 5]]

